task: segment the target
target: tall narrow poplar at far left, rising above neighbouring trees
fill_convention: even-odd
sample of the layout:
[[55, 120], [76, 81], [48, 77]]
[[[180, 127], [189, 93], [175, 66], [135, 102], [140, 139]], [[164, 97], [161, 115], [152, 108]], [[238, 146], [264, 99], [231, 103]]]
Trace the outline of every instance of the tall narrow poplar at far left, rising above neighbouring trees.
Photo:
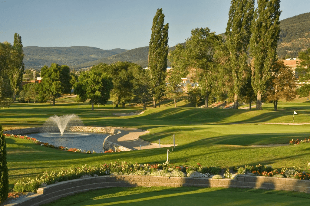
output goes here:
[[16, 100], [16, 94], [20, 90], [21, 82], [23, 81], [23, 73], [25, 65], [23, 63], [24, 52], [23, 44], [21, 43], [21, 36], [17, 33], [14, 35], [13, 50], [11, 52], [12, 68], [9, 73], [11, 88], [13, 91], [13, 100]]

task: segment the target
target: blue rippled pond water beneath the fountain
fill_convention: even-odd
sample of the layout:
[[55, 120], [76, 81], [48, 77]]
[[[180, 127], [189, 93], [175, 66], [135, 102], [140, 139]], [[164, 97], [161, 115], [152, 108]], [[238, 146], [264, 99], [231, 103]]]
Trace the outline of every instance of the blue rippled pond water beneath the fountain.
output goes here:
[[34, 133], [27, 136], [36, 138], [40, 142], [48, 142], [54, 146], [77, 148], [82, 151], [104, 152], [104, 139], [110, 134], [92, 132]]

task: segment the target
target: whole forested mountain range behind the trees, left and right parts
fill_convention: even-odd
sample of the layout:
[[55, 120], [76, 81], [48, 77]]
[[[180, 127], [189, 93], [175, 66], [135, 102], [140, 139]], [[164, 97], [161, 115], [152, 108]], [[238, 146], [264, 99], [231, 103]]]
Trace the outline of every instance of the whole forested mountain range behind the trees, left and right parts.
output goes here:
[[[277, 54], [279, 58], [295, 58], [300, 51], [310, 47], [310, 12], [280, 21], [280, 39]], [[224, 34], [222, 34], [224, 36]], [[174, 50], [175, 46], [169, 50]], [[38, 47], [25, 46], [25, 68], [41, 69], [52, 63], [66, 64], [76, 70], [99, 63], [111, 64], [117, 61], [129, 61], [148, 66], [148, 46], [136, 49], [103, 50], [89, 46]]]

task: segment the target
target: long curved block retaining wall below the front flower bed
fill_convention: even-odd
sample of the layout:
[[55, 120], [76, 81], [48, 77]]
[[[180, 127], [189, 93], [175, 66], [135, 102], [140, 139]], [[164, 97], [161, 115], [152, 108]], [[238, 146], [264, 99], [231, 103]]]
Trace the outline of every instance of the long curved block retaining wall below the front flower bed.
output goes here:
[[310, 193], [310, 181], [291, 178], [273, 178], [239, 175], [238, 179], [212, 179], [190, 177], [158, 176], [99, 176], [75, 179], [41, 187], [37, 194], [18, 200], [6, 206], [38, 206], [80, 192], [108, 187], [134, 186], [198, 186], [198, 187], [237, 187], [267, 190], [287, 190]]

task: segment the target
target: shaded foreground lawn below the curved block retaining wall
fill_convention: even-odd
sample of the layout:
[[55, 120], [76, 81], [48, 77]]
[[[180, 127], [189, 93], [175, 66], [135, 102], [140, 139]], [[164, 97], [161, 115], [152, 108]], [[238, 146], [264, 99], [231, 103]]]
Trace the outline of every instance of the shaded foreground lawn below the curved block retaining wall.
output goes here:
[[80, 193], [46, 206], [79, 205], [309, 205], [307, 194], [239, 188], [117, 187]]

